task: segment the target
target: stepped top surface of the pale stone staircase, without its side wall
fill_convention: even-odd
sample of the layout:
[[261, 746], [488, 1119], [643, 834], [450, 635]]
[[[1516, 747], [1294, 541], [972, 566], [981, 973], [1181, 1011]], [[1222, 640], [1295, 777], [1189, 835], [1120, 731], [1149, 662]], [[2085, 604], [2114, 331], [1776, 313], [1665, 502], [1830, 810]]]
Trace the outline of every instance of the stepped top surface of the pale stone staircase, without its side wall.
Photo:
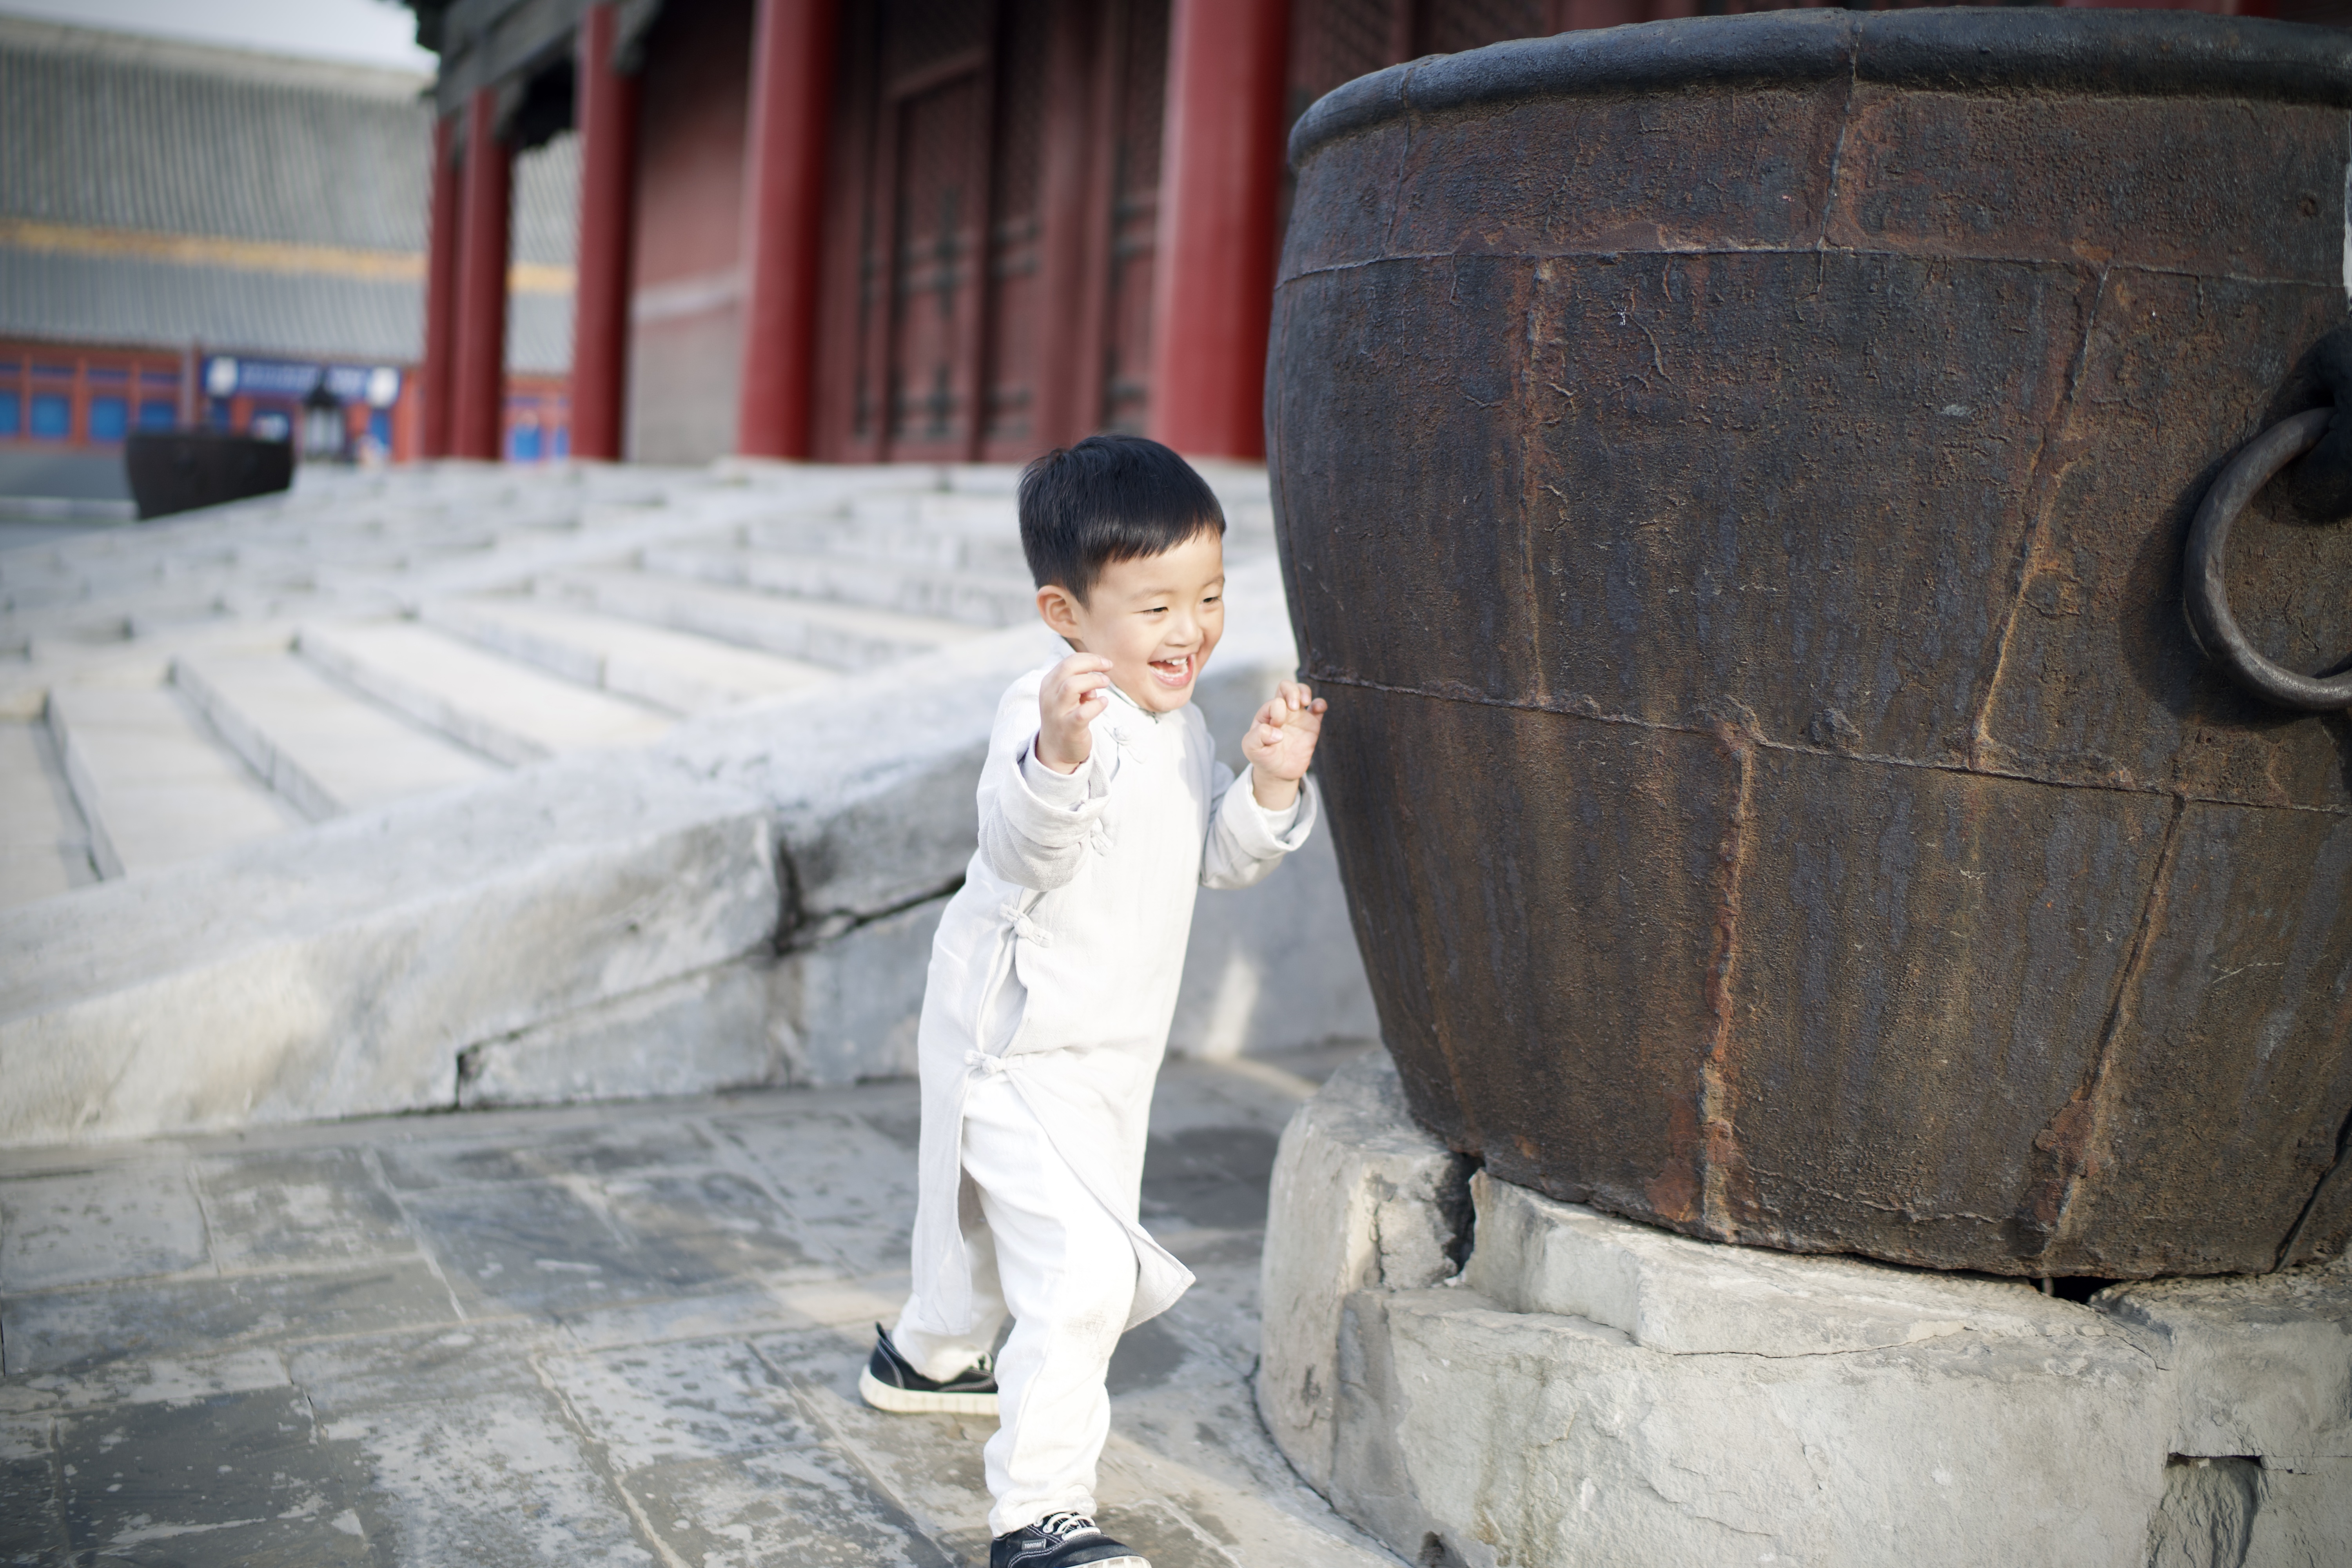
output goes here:
[[[0, 552], [0, 907], [1021, 625], [1014, 477], [306, 470]], [[1263, 470], [1211, 482], [1270, 552]]]

